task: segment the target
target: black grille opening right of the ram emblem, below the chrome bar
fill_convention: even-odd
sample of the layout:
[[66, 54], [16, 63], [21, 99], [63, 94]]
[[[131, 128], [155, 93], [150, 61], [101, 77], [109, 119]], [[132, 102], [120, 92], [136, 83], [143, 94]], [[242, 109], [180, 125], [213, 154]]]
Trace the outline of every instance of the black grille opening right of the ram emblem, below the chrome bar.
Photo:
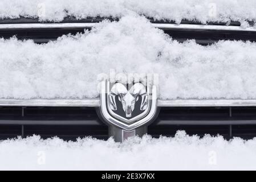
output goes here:
[[256, 107], [162, 107], [149, 134], [174, 136], [177, 130], [202, 137], [205, 134], [225, 138], [256, 137]]

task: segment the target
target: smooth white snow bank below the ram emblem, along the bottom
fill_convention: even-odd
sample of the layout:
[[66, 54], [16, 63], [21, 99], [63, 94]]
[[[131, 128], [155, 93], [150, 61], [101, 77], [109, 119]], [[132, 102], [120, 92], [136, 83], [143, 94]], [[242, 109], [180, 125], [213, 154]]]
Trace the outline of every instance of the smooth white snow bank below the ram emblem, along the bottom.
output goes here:
[[256, 138], [131, 138], [115, 143], [92, 138], [64, 142], [39, 136], [0, 142], [0, 169], [227, 170], [256, 169]]

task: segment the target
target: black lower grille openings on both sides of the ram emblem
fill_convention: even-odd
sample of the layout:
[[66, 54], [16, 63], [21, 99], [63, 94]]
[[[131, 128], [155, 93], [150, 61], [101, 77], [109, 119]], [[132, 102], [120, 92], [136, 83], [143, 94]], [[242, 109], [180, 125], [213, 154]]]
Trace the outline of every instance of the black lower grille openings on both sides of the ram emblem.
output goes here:
[[[1, 107], [0, 138], [42, 138], [67, 140], [92, 136], [108, 138], [108, 126], [94, 107]], [[153, 137], [172, 137], [178, 130], [187, 134], [222, 135], [225, 138], [256, 137], [256, 107], [161, 107], [148, 127]]]

